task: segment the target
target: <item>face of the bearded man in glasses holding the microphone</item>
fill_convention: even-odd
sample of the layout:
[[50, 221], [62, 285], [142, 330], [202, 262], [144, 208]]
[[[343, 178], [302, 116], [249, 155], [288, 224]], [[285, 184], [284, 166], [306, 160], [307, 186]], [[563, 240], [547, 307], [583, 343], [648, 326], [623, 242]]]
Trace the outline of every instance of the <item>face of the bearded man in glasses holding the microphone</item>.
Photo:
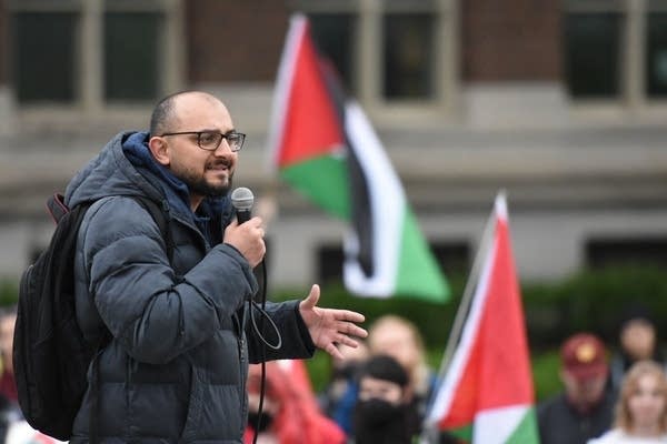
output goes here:
[[[233, 130], [227, 108], [217, 99], [200, 94], [185, 94], [176, 102], [176, 128], [168, 132], [219, 131], [225, 134]], [[169, 169], [182, 180], [190, 193], [203, 198], [225, 195], [231, 188], [238, 153], [229, 149], [223, 139], [216, 151], [206, 151], [197, 144], [197, 134], [165, 137]]]

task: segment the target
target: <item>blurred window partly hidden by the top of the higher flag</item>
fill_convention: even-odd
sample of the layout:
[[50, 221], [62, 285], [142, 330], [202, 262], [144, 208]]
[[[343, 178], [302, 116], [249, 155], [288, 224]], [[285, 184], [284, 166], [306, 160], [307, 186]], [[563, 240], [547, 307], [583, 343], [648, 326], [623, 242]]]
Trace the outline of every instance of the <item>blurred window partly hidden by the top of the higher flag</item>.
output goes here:
[[347, 89], [382, 110], [449, 108], [456, 89], [457, 0], [297, 0]]

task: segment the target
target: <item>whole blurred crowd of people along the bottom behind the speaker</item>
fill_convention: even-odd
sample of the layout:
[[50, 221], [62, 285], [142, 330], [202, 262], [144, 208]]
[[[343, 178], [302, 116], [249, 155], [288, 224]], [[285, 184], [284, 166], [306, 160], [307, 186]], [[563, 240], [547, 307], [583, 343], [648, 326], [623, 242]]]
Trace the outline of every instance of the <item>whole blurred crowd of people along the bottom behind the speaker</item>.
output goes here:
[[[593, 333], [576, 333], [564, 341], [563, 393], [537, 405], [541, 444], [667, 443], [667, 373], [656, 325], [645, 312], [627, 314], [614, 353]], [[8, 444], [56, 443], [21, 420], [11, 362], [14, 323], [16, 310], [4, 309], [0, 313], [0, 434]], [[437, 376], [427, 364], [419, 330], [407, 319], [388, 314], [372, 322], [368, 333], [358, 347], [339, 345], [340, 354], [331, 357], [329, 383], [319, 393], [307, 376], [306, 383], [297, 376], [290, 361], [267, 362], [263, 371], [261, 364], [250, 365], [243, 442], [418, 442]], [[440, 443], [459, 441], [442, 434]]]

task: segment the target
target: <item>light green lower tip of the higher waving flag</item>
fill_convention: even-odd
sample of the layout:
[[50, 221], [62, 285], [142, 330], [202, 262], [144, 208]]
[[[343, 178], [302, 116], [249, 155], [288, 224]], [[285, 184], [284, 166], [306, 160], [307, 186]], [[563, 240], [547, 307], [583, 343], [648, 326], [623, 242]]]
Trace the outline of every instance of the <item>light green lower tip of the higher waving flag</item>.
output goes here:
[[396, 293], [406, 297], [446, 302], [449, 299], [449, 286], [407, 204], [404, 214]]

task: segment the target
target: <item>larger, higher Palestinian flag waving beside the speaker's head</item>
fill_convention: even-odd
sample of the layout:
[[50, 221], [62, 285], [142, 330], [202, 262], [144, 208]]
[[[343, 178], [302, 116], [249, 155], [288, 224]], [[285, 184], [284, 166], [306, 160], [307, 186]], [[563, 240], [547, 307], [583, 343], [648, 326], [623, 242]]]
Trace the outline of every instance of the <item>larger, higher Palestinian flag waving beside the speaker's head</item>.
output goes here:
[[293, 16], [276, 84], [272, 165], [316, 205], [350, 222], [344, 242], [350, 292], [445, 302], [447, 282], [382, 143], [337, 80], [306, 17]]

